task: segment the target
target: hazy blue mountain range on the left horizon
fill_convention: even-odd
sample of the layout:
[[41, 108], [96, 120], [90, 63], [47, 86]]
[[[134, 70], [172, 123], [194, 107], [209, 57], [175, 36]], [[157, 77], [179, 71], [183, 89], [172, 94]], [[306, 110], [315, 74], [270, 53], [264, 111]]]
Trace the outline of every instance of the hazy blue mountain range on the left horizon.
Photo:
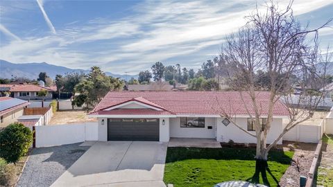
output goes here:
[[[46, 62], [29, 62], [29, 63], [12, 63], [6, 60], [0, 60], [0, 78], [29, 78], [37, 79], [40, 72], [46, 72], [51, 78], [56, 78], [57, 74], [65, 75], [65, 73], [83, 72], [88, 73], [87, 69], [70, 69], [65, 66], [56, 66]], [[105, 72], [106, 75], [114, 78], [121, 78], [123, 80], [130, 80], [130, 78], [137, 78], [138, 75], [123, 75]]]

